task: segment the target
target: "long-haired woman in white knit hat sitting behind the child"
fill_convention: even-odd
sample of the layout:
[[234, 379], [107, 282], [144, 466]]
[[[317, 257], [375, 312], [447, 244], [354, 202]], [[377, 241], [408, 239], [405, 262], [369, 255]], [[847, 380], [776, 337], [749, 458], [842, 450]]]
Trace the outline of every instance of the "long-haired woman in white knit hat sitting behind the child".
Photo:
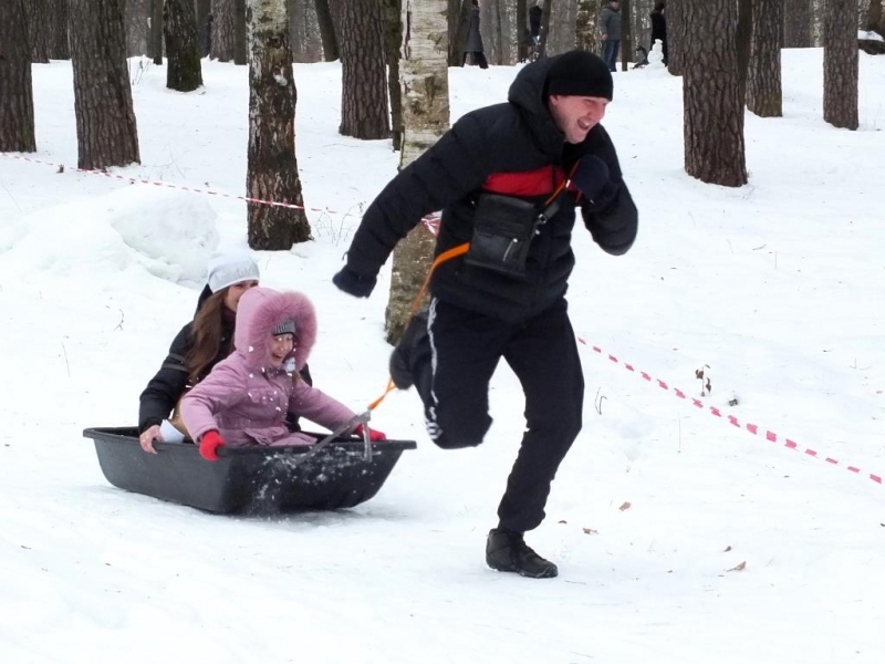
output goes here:
[[[142, 449], [156, 453], [154, 440], [178, 439], [187, 435], [176, 409], [189, 387], [206, 377], [232, 349], [233, 325], [240, 297], [258, 286], [256, 262], [246, 255], [222, 255], [209, 263], [206, 288], [200, 293], [194, 320], [173, 340], [159, 371], [142, 392], [138, 409], [138, 440]], [[302, 377], [311, 384], [305, 366]]]

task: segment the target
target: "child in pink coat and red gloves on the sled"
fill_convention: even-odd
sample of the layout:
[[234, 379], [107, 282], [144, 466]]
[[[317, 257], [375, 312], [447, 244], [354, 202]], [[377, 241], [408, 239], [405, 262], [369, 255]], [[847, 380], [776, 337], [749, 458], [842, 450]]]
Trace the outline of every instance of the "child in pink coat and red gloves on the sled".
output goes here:
[[[181, 401], [181, 416], [200, 455], [218, 459], [222, 445], [311, 445], [315, 438], [285, 426], [293, 413], [329, 429], [354, 412], [298, 374], [316, 341], [313, 304], [301, 293], [252, 288], [240, 298], [235, 351]], [[362, 434], [363, 425], [353, 433]], [[384, 434], [369, 429], [372, 440]]]

